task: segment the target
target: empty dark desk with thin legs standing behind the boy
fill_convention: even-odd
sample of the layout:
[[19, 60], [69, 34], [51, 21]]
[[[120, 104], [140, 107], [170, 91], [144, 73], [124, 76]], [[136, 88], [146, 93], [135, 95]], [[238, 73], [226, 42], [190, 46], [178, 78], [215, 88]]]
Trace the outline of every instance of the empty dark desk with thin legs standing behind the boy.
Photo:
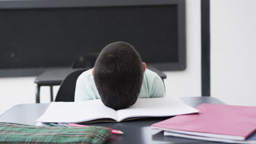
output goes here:
[[[166, 74], [162, 73], [162, 71], [147, 65], [149, 70], [157, 73], [162, 80], [166, 79]], [[40, 103], [40, 87], [41, 86], [50, 86], [50, 98], [53, 101], [53, 86], [61, 85], [61, 82], [65, 79], [65, 77], [72, 73], [73, 71], [78, 69], [72, 68], [56, 68], [45, 70], [42, 74], [36, 77], [34, 83], [37, 84], [36, 88], [36, 103]]]

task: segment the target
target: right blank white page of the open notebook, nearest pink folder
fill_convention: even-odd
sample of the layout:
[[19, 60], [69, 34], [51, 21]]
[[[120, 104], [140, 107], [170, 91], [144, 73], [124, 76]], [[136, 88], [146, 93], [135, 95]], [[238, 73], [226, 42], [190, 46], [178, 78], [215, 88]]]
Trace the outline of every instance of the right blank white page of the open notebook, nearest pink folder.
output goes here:
[[199, 112], [193, 107], [185, 105], [179, 99], [150, 98], [138, 99], [127, 109], [118, 110], [118, 121], [130, 117], [164, 117], [177, 116], [184, 113]]

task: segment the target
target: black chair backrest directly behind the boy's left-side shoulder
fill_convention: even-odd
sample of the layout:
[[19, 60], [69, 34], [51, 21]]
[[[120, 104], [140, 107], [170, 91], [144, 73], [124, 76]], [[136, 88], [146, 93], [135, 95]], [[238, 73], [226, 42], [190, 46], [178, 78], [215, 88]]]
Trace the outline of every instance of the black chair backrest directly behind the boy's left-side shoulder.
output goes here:
[[71, 74], [69, 74], [65, 78], [65, 80], [62, 81], [54, 101], [74, 101], [75, 85], [77, 83], [77, 78], [80, 74], [88, 69], [90, 68], [80, 69], [77, 71], [73, 71]]

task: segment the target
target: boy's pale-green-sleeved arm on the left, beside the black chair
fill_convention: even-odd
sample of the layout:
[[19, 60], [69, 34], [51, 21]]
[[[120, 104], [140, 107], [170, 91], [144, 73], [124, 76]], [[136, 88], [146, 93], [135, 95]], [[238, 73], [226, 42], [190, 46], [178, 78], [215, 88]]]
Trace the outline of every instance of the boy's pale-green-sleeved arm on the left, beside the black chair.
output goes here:
[[88, 92], [87, 80], [83, 75], [80, 75], [77, 79], [77, 84], [75, 85], [75, 96], [74, 101], [91, 100], [90, 94]]

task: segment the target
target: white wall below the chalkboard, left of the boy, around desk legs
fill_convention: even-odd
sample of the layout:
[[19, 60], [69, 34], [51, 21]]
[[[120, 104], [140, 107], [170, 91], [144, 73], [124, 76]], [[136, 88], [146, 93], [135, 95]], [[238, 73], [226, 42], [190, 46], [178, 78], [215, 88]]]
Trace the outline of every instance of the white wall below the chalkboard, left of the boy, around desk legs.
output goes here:
[[[0, 115], [14, 105], [36, 102], [34, 79], [34, 76], [0, 78]], [[54, 87], [55, 95], [58, 89], [59, 86]], [[41, 103], [49, 103], [50, 88], [42, 86], [40, 96]]]

